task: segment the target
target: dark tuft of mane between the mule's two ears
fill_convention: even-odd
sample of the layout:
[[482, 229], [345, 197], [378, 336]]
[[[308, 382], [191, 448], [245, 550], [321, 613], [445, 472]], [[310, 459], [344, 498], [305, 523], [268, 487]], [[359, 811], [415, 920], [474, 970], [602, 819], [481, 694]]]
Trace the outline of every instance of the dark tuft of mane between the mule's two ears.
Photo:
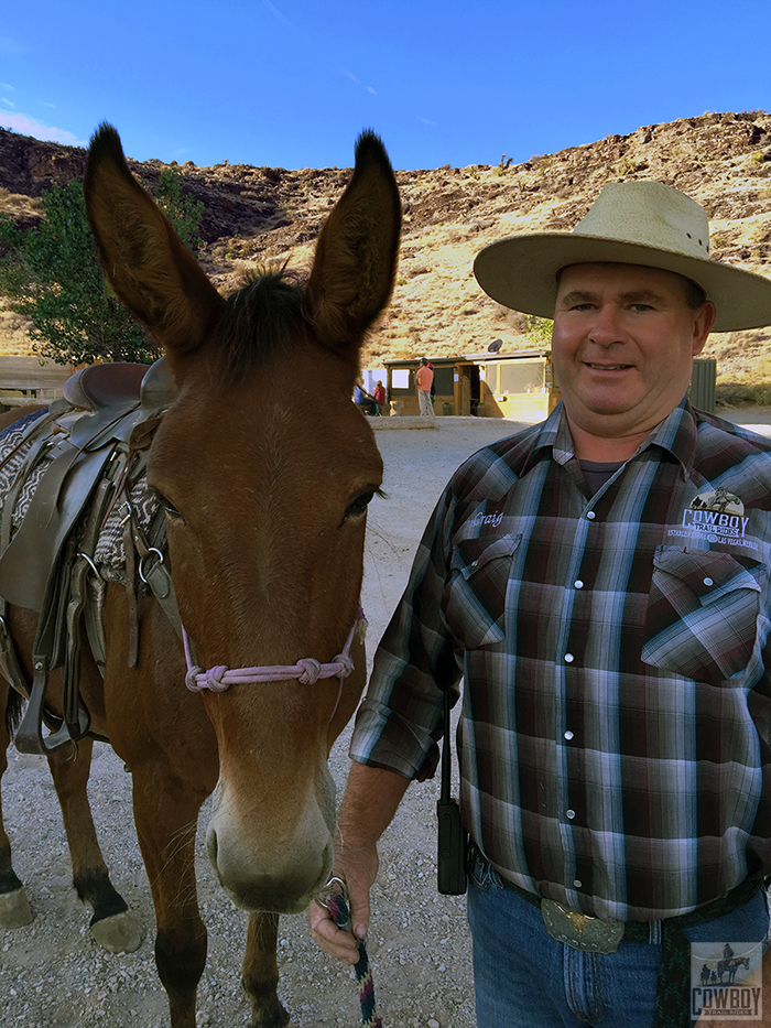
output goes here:
[[297, 336], [305, 290], [286, 269], [252, 273], [225, 302], [216, 328], [216, 376], [224, 388], [287, 348]]

